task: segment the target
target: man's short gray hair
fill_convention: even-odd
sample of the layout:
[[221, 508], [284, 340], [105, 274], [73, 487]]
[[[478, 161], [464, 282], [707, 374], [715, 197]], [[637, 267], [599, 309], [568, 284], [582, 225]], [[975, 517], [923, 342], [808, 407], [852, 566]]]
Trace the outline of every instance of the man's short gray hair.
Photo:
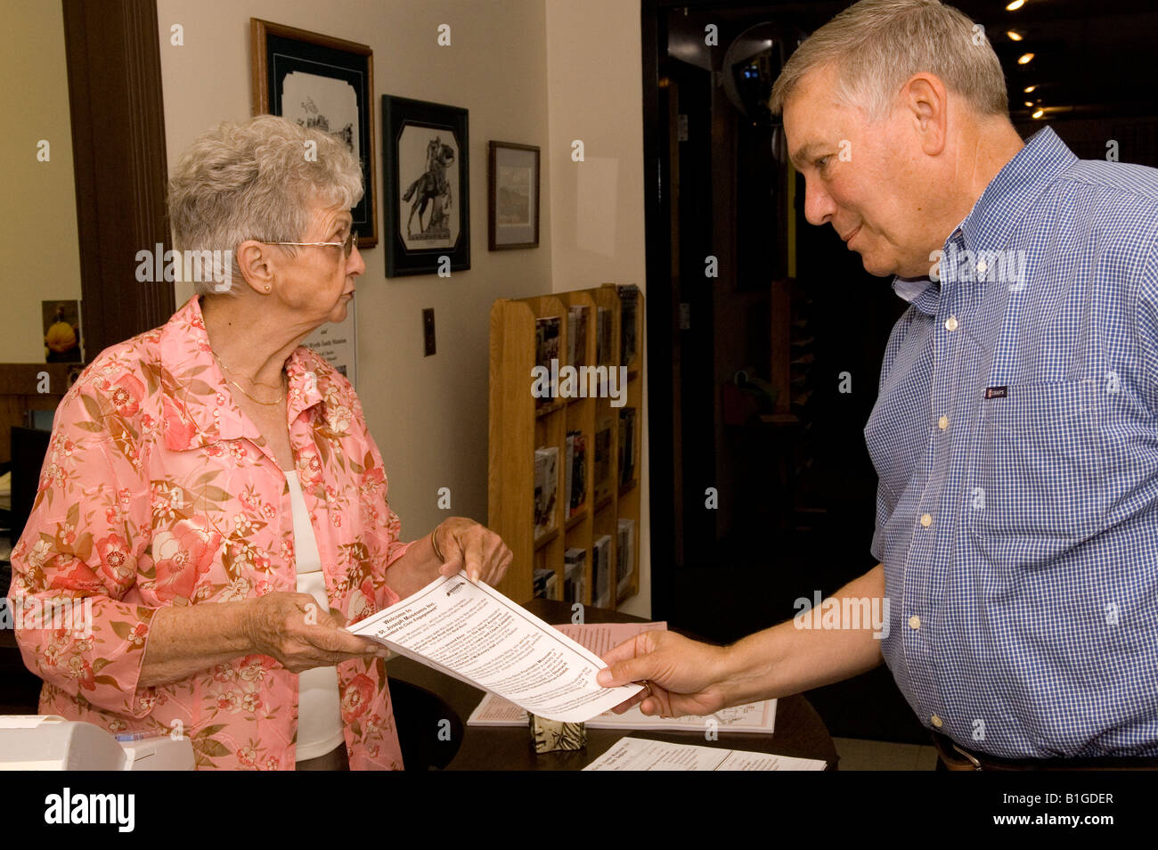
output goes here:
[[804, 76], [834, 65], [836, 96], [870, 122], [886, 117], [914, 74], [936, 74], [979, 115], [1009, 115], [1001, 61], [984, 29], [938, 0], [860, 0], [813, 32], [784, 64], [768, 107], [774, 115]]

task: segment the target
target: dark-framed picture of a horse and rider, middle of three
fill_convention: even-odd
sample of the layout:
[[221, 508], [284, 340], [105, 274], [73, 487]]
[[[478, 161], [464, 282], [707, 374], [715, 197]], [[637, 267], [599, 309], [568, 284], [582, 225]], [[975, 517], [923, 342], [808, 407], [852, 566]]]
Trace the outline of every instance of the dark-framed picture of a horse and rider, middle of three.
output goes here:
[[469, 269], [467, 110], [382, 95], [382, 139], [386, 276]]

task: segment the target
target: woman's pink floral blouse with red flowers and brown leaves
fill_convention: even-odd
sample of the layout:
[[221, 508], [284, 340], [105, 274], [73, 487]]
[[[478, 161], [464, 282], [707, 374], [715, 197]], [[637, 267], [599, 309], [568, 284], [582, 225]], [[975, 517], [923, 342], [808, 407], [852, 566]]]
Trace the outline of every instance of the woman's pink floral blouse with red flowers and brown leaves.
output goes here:
[[[397, 601], [386, 573], [410, 544], [350, 382], [306, 347], [286, 372], [327, 593], [352, 623]], [[85, 369], [57, 410], [9, 596], [90, 598], [90, 629], [17, 628], [16, 638], [44, 680], [41, 713], [112, 733], [176, 730], [198, 769], [293, 770], [298, 676], [274, 659], [138, 687], [160, 607], [296, 591], [285, 475], [227, 387], [196, 298]], [[74, 613], [65, 625], [76, 624]], [[338, 680], [351, 769], [401, 769], [384, 662], [345, 661]]]

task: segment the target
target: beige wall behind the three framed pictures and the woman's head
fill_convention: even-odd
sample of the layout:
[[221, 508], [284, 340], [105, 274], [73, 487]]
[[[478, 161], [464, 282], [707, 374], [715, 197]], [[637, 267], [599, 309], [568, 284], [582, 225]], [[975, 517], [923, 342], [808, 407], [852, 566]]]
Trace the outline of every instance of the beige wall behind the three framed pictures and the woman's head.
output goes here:
[[[366, 273], [358, 284], [358, 393], [386, 460], [403, 537], [425, 534], [448, 513], [485, 522], [491, 302], [551, 290], [543, 1], [159, 0], [157, 16], [170, 163], [208, 126], [250, 115], [250, 16], [373, 49], [379, 192], [381, 95], [470, 110], [471, 269], [449, 279], [388, 280], [380, 200], [379, 247], [364, 254]], [[170, 45], [175, 23], [184, 28], [183, 46]], [[450, 24], [452, 46], [435, 42], [440, 23]], [[486, 250], [489, 139], [543, 148], [537, 249]], [[184, 295], [178, 292], [178, 302]], [[424, 307], [434, 308], [438, 331], [438, 353], [430, 358], [423, 357]], [[450, 512], [437, 507], [441, 486], [450, 488]]]

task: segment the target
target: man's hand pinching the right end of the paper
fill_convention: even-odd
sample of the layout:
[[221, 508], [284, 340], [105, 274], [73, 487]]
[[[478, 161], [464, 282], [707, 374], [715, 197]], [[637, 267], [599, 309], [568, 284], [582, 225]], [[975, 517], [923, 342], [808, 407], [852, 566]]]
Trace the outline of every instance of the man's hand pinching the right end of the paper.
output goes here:
[[645, 631], [603, 655], [608, 667], [598, 681], [607, 688], [646, 682], [640, 691], [615, 706], [622, 715], [636, 703], [645, 715], [680, 717], [711, 715], [725, 708], [721, 689], [727, 650], [689, 640], [672, 631]]

